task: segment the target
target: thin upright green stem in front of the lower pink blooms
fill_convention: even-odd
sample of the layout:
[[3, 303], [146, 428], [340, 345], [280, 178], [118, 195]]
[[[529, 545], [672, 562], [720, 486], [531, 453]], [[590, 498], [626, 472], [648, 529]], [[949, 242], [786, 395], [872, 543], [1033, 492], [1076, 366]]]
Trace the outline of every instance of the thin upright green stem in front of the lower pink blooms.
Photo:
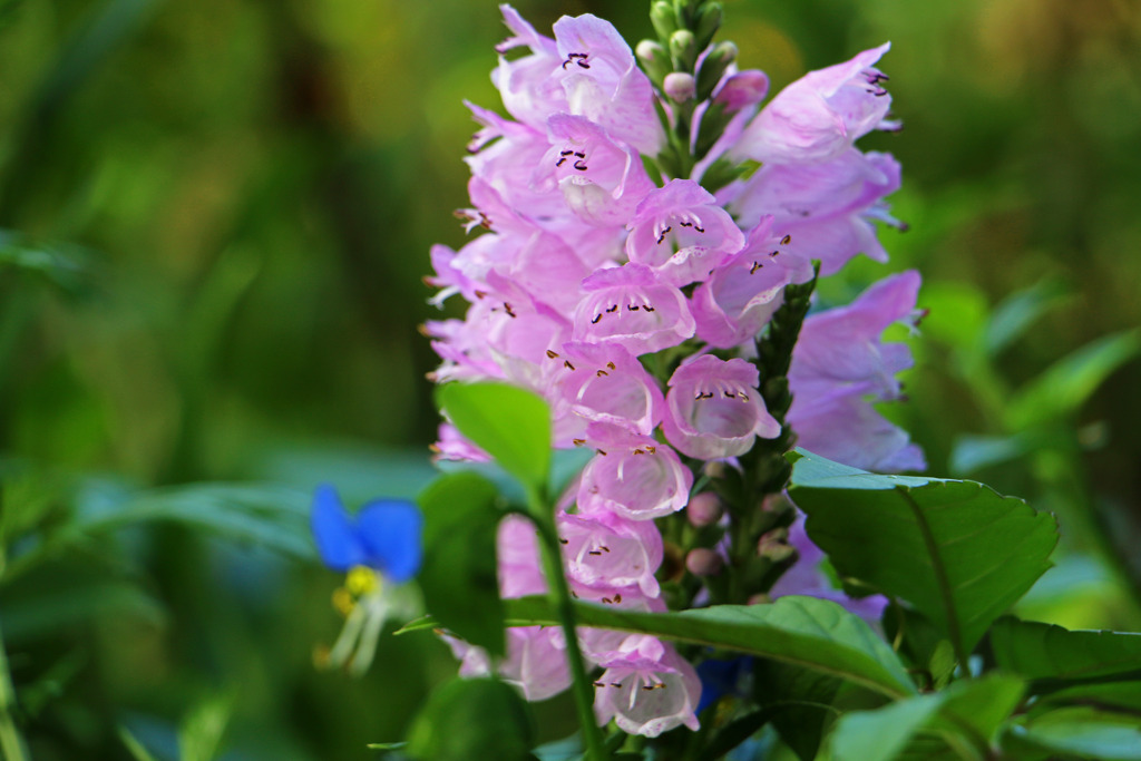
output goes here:
[[542, 545], [543, 573], [551, 604], [563, 625], [563, 635], [567, 642], [567, 664], [570, 667], [570, 693], [574, 695], [575, 710], [578, 712], [578, 723], [582, 724], [583, 744], [586, 746], [586, 761], [605, 761], [608, 758], [602, 732], [594, 718], [594, 694], [586, 677], [586, 662], [578, 647], [578, 635], [575, 632], [574, 604], [570, 600], [570, 586], [563, 570], [563, 548], [559, 544], [558, 531], [555, 527], [555, 511], [548, 501], [536, 489], [527, 489], [528, 517], [539, 528]]

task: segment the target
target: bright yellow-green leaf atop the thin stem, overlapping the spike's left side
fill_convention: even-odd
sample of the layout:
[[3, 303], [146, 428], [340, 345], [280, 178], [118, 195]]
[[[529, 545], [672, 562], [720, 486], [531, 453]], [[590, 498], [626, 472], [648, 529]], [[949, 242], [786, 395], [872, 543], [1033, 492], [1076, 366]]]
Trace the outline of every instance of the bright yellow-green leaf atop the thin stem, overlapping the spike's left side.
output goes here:
[[446, 383], [437, 392], [453, 424], [524, 486], [542, 489], [551, 462], [551, 411], [504, 383]]

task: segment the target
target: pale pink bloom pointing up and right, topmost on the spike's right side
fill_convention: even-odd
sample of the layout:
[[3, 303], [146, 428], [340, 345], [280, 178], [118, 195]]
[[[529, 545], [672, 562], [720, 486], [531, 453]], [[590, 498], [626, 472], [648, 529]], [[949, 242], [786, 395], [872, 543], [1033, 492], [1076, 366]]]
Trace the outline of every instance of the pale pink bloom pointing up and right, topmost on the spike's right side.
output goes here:
[[[873, 68], [890, 43], [809, 72], [777, 94], [730, 151], [764, 163], [825, 161], [880, 126], [891, 107], [888, 78]], [[889, 124], [890, 126], [890, 124]]]

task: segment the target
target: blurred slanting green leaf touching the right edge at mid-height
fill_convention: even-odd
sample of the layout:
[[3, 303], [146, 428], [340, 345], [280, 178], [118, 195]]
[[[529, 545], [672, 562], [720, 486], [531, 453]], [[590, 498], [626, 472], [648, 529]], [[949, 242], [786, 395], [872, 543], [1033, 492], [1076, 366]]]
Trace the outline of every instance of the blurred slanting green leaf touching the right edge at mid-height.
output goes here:
[[1008, 430], [1076, 413], [1139, 350], [1141, 330], [1131, 330], [1099, 338], [1059, 359], [1011, 399], [1006, 410]]

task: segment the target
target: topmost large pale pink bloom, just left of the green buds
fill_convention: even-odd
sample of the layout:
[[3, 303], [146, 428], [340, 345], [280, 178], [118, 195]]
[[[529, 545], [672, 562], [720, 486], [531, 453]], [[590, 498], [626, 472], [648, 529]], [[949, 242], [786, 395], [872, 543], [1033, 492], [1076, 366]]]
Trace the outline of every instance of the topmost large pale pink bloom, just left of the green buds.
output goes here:
[[654, 111], [654, 88], [630, 46], [607, 22], [584, 14], [555, 22], [561, 78], [572, 114], [597, 122], [640, 153], [655, 155], [665, 133]]

